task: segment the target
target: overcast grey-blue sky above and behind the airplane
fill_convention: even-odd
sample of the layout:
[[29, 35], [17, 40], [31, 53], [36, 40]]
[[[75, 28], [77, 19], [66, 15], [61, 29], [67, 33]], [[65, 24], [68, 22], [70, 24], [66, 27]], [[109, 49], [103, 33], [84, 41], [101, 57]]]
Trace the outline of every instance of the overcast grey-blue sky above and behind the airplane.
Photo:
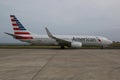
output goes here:
[[31, 32], [99, 35], [120, 41], [119, 0], [0, 0], [0, 43], [19, 42], [3, 32], [13, 32], [14, 14]]

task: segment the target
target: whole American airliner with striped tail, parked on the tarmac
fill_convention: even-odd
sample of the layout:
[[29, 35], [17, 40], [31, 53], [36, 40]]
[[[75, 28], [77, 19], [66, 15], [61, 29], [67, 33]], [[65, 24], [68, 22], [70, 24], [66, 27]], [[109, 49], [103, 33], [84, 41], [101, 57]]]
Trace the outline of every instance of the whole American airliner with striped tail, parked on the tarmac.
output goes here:
[[112, 43], [111, 40], [101, 36], [83, 36], [83, 35], [52, 35], [51, 32], [45, 28], [47, 35], [37, 35], [28, 31], [15, 15], [10, 15], [14, 34], [6, 34], [13, 38], [28, 42], [33, 45], [43, 46], [60, 46], [61, 48], [81, 48], [83, 45], [97, 45], [100, 47], [108, 46]]

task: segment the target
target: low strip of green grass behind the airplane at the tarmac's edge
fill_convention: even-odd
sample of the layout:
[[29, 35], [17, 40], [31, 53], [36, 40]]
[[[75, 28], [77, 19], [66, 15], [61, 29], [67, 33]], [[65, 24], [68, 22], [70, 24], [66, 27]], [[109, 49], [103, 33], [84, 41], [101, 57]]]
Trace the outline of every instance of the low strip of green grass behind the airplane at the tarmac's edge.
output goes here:
[[[68, 48], [68, 47], [65, 47]], [[0, 49], [60, 49], [60, 46], [0, 45]], [[82, 46], [81, 49], [100, 49], [99, 46]], [[114, 42], [105, 49], [120, 49], [120, 43]]]

